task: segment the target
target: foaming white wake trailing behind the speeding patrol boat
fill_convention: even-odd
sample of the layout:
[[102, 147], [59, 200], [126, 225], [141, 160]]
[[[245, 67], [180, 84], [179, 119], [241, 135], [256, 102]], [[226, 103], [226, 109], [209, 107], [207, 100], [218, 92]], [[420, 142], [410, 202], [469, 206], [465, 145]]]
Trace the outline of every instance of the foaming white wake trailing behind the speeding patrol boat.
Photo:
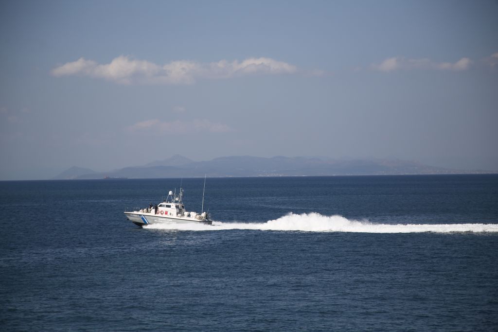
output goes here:
[[212, 225], [196, 223], [161, 223], [144, 226], [148, 229], [177, 230], [296, 230], [311, 232], [362, 232], [362, 233], [420, 233], [420, 232], [498, 232], [498, 224], [448, 223], [448, 224], [384, 224], [349, 220], [342, 216], [322, 216], [318, 213], [288, 214], [266, 222], [221, 222]]

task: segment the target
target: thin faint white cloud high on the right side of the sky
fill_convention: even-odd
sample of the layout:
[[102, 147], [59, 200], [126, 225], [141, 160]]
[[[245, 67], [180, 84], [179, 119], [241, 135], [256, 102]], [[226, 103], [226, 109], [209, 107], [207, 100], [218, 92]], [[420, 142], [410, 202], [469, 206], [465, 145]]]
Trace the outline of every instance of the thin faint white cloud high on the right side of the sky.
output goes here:
[[462, 58], [455, 63], [451, 62], [433, 62], [430, 59], [406, 59], [403, 57], [387, 58], [380, 64], [373, 64], [371, 68], [382, 72], [391, 72], [395, 70], [410, 69], [433, 69], [433, 70], [466, 70], [472, 64], [469, 58]]

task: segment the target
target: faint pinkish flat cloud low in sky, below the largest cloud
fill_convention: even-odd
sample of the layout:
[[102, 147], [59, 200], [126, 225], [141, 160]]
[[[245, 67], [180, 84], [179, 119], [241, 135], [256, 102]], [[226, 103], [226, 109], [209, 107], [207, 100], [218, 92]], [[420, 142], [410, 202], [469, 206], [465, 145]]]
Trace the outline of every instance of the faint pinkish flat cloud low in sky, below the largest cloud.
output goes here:
[[206, 119], [194, 119], [192, 121], [160, 121], [158, 119], [145, 120], [136, 122], [128, 127], [127, 131], [139, 132], [139, 131], [150, 131], [153, 133], [167, 134], [167, 133], [198, 133], [198, 132], [230, 132], [234, 131], [229, 126], [211, 122]]

